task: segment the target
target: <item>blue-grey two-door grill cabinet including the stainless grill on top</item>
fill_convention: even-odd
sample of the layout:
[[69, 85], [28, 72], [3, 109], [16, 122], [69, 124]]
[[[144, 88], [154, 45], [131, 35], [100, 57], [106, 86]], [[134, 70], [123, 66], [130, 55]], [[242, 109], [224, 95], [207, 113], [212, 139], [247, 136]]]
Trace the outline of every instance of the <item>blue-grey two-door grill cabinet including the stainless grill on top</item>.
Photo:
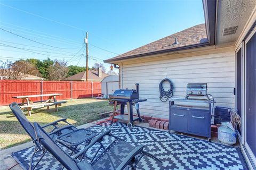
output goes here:
[[210, 141], [215, 101], [207, 94], [207, 83], [188, 83], [186, 93], [185, 98], [170, 98], [169, 132], [199, 135]]

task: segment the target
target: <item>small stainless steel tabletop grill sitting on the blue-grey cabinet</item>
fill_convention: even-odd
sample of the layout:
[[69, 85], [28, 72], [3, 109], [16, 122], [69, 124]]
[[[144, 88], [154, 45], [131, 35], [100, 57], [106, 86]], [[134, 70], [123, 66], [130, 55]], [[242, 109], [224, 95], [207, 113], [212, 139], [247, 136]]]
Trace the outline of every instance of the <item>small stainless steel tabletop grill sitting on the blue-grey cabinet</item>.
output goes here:
[[189, 96], [205, 96], [208, 100], [210, 100], [207, 95], [207, 83], [188, 83], [186, 99]]

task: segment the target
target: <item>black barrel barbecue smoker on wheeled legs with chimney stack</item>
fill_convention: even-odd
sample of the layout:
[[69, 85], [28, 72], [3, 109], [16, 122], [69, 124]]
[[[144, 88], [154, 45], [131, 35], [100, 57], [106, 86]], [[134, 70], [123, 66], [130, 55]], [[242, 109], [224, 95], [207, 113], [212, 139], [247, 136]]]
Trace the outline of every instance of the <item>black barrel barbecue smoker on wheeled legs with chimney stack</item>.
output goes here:
[[[114, 118], [119, 120], [127, 120], [127, 126], [132, 128], [134, 121], [142, 122], [142, 118], [140, 117], [139, 111], [139, 102], [146, 101], [147, 99], [140, 99], [139, 96], [139, 83], [135, 84], [136, 90], [134, 89], [118, 89], [114, 92], [113, 96], [109, 99], [110, 101], [114, 102], [114, 111], [113, 116], [111, 119], [111, 123], [113, 122]], [[115, 116], [116, 107], [117, 105], [121, 105], [120, 108], [120, 115]], [[124, 107], [127, 106], [128, 115], [124, 114]], [[133, 106], [137, 111], [138, 116], [133, 115]]]

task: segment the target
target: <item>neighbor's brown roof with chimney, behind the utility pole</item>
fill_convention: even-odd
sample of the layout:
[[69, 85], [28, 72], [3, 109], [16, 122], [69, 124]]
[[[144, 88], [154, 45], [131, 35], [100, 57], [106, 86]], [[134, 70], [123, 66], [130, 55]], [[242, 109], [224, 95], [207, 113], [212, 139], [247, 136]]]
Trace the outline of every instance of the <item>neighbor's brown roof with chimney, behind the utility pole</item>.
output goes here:
[[[107, 77], [108, 74], [102, 72], [101, 78], [98, 76], [98, 71], [97, 70], [88, 70], [88, 80], [89, 81], [101, 81], [105, 77]], [[85, 81], [86, 80], [86, 72], [80, 72], [75, 75], [72, 75], [68, 78], [65, 78], [63, 80], [68, 80], [68, 81]]]

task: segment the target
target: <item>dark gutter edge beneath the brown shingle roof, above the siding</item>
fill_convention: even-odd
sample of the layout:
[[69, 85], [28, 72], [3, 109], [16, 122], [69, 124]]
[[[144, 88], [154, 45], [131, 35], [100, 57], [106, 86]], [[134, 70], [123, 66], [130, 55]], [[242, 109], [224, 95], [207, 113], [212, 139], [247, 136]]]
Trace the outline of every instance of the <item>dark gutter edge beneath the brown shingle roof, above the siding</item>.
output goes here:
[[165, 54], [165, 53], [171, 53], [171, 52], [177, 52], [179, 50], [186, 50], [186, 49], [191, 49], [191, 48], [199, 48], [199, 47], [205, 47], [209, 46], [209, 43], [200, 43], [200, 44], [193, 44], [189, 46], [183, 46], [183, 47], [177, 47], [177, 48], [172, 48], [172, 49], [165, 49], [165, 50], [159, 50], [156, 52], [150, 52], [150, 53], [143, 53], [143, 54], [138, 54], [138, 55], [132, 55], [132, 56], [125, 56], [121, 58], [113, 58], [109, 60], [105, 60], [105, 63], [113, 63], [114, 61], [120, 61], [120, 60], [127, 60], [131, 58], [137, 58], [137, 57], [145, 57], [145, 56], [151, 56], [151, 55], [157, 55], [157, 54]]

